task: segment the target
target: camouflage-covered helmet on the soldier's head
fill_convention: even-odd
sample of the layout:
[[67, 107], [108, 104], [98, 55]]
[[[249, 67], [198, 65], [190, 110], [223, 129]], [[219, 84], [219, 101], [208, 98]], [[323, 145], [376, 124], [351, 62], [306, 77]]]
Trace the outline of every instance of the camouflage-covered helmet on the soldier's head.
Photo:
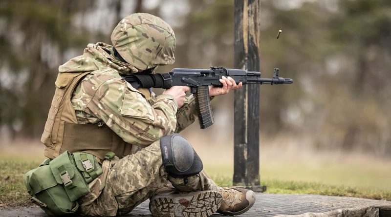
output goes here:
[[175, 35], [171, 26], [151, 14], [131, 14], [111, 34], [121, 57], [139, 71], [175, 62]]

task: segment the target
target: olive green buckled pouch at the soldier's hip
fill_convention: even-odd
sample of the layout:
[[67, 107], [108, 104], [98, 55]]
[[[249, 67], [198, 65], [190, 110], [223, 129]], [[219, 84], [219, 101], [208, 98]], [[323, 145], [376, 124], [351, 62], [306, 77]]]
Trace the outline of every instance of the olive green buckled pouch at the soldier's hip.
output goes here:
[[[90, 154], [83, 154], [87, 159], [91, 158], [88, 157]], [[80, 155], [76, 154], [76, 156]], [[81, 161], [81, 158], [79, 159]], [[93, 156], [91, 159], [97, 171], [90, 170], [89, 174], [93, 172], [99, 174], [99, 171], [102, 173], [102, 168]], [[83, 162], [77, 161], [75, 162], [74, 157], [65, 151], [53, 160], [46, 159], [38, 168], [23, 176], [24, 185], [32, 196], [31, 201], [39, 205], [47, 215], [58, 216], [76, 212], [79, 208], [76, 200], [89, 192], [87, 181], [82, 175], [86, 171], [79, 171], [77, 166], [81, 163], [83, 167]], [[88, 180], [92, 181], [91, 178], [92, 176]]]

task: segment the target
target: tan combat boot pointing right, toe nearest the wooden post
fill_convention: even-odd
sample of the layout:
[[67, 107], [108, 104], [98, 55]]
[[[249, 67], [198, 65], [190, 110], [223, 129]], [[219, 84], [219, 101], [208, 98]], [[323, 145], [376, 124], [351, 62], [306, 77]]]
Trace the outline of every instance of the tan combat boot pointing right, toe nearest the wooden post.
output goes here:
[[218, 187], [217, 190], [222, 197], [217, 213], [236, 216], [247, 212], [254, 205], [255, 193], [251, 190], [235, 187]]

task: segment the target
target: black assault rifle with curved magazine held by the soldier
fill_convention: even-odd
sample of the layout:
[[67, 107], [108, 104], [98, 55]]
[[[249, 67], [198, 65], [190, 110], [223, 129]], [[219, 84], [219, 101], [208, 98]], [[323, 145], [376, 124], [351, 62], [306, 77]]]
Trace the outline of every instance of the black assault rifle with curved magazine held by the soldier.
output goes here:
[[292, 79], [278, 77], [279, 69], [274, 69], [271, 79], [261, 78], [261, 72], [249, 72], [241, 69], [227, 69], [211, 67], [210, 69], [173, 69], [163, 74], [132, 74], [123, 76], [134, 88], [164, 88], [172, 86], [189, 86], [194, 94], [197, 115], [201, 129], [205, 129], [215, 122], [209, 98], [209, 85], [222, 87], [219, 79], [222, 76], [231, 77], [237, 84], [291, 84]]

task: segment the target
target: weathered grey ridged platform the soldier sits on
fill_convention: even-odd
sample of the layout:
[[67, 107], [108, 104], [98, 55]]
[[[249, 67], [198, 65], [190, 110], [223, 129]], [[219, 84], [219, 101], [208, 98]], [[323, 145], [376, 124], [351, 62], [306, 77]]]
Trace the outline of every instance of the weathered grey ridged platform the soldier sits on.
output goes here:
[[[148, 202], [147, 200], [141, 203], [127, 217], [152, 217]], [[295, 217], [391, 217], [391, 201], [355, 197], [257, 193], [256, 203], [241, 217], [293, 217], [292, 215], [297, 215]], [[37, 206], [0, 207], [0, 216], [46, 217]]]

